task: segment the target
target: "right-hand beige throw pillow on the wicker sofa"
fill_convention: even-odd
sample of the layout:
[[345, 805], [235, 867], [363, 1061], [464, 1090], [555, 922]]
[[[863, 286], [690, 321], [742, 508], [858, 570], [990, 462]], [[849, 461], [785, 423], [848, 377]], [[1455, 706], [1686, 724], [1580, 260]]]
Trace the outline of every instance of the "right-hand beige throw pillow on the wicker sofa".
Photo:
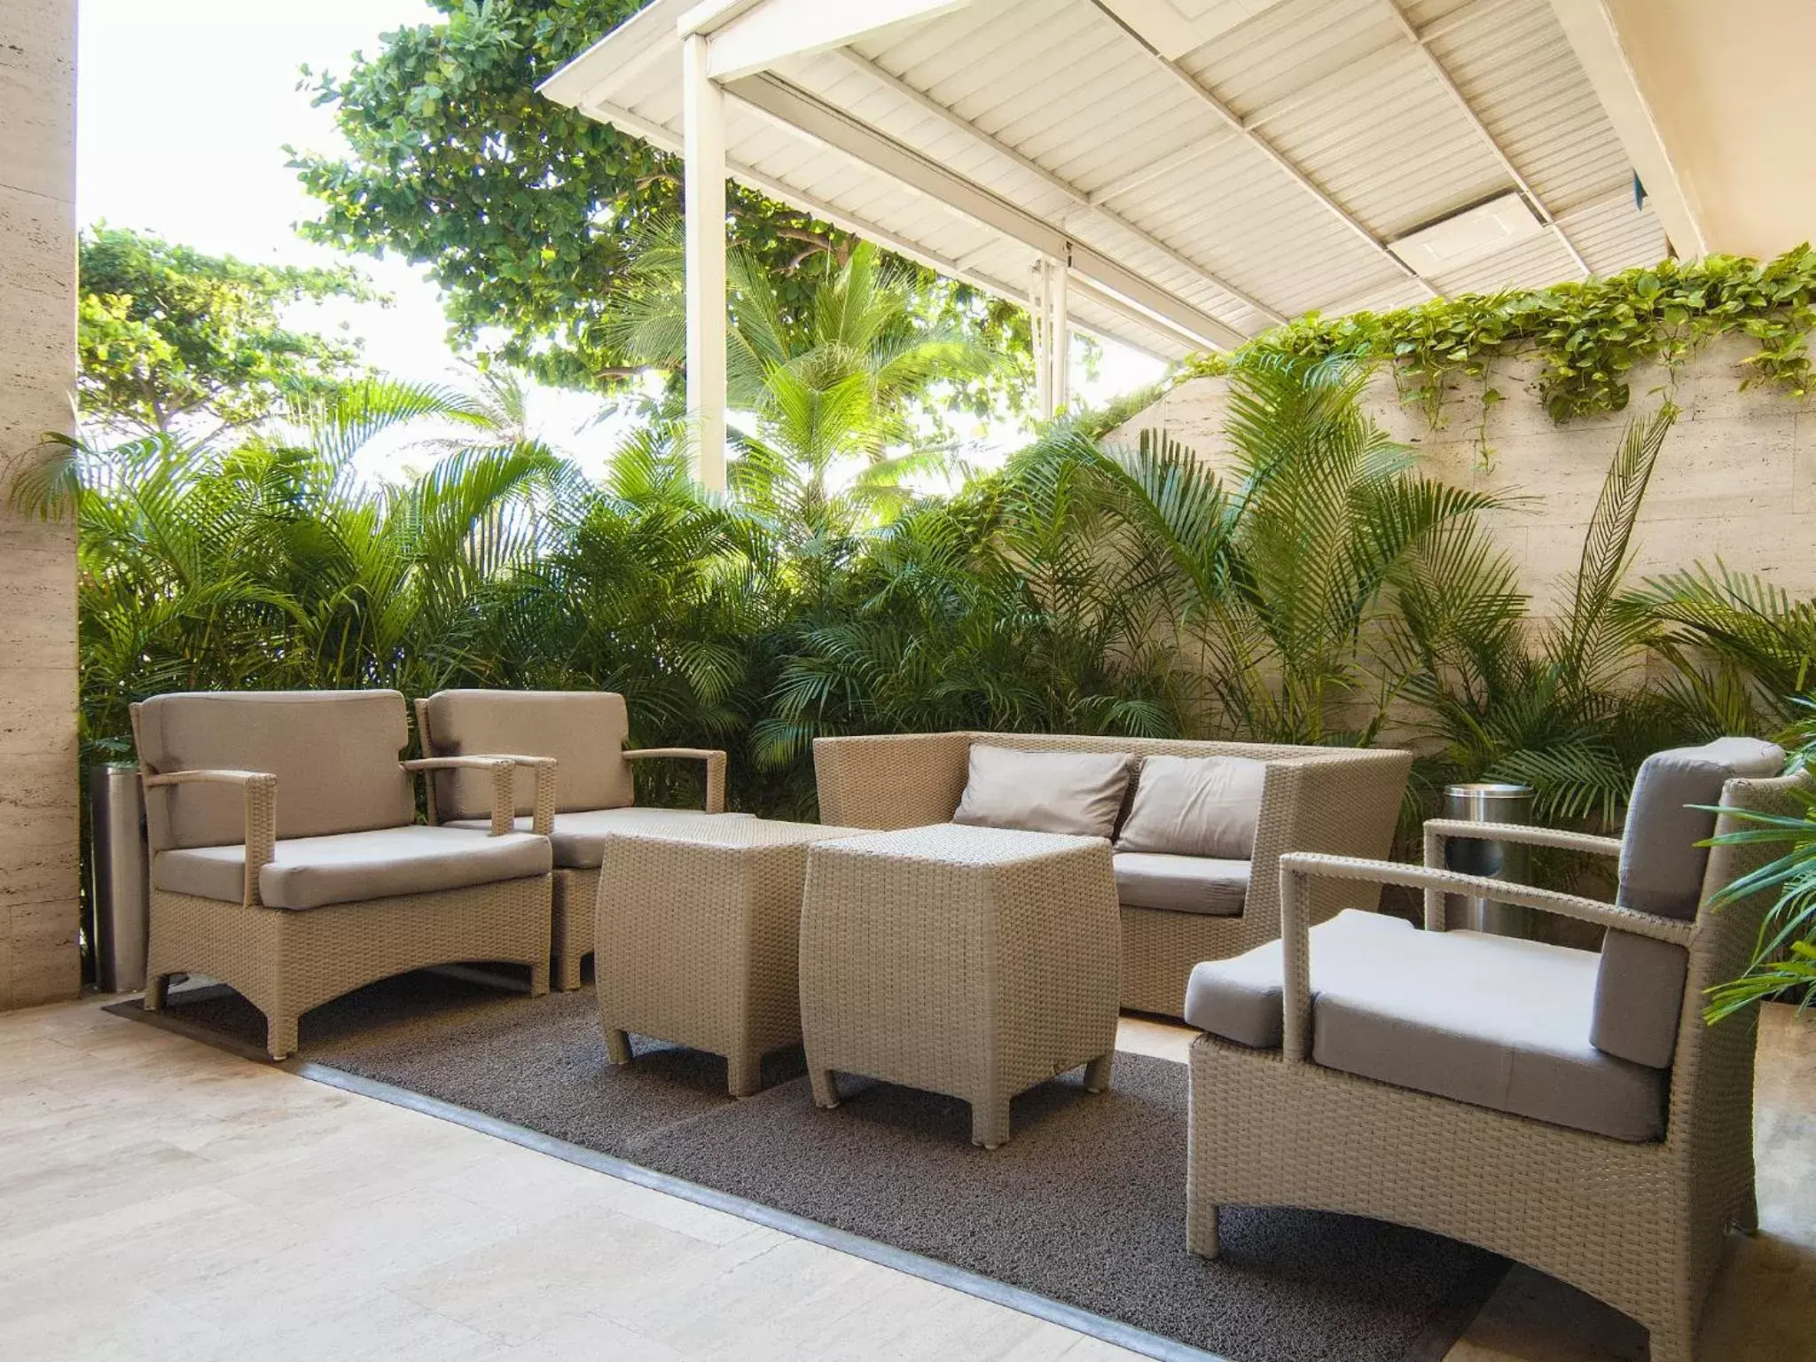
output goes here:
[[1266, 775], [1253, 757], [1148, 757], [1117, 850], [1248, 861]]

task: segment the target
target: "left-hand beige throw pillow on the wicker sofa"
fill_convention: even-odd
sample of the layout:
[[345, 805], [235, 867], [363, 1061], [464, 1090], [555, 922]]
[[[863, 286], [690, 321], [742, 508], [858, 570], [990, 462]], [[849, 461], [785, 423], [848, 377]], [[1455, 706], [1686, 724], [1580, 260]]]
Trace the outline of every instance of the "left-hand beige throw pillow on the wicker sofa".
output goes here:
[[1108, 837], [1128, 794], [1128, 752], [1021, 752], [972, 743], [953, 823]]

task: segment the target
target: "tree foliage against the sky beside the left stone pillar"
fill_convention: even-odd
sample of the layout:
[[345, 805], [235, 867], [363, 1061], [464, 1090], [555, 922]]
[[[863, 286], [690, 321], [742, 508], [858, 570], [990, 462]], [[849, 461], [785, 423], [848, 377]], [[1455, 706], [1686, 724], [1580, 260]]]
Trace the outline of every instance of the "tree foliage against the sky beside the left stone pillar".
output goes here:
[[116, 436], [211, 439], [354, 372], [354, 347], [292, 331], [300, 300], [367, 300], [349, 269], [249, 265], [100, 225], [82, 234], [78, 396]]

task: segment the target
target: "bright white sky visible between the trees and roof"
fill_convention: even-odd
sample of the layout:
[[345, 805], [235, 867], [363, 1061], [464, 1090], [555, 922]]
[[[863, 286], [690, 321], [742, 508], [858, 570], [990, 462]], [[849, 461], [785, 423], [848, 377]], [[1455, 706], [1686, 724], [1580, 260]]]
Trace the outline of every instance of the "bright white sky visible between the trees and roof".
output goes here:
[[[262, 263], [334, 263], [334, 252], [294, 232], [296, 222], [316, 216], [316, 203], [285, 169], [283, 145], [343, 145], [331, 111], [312, 109], [298, 89], [298, 67], [345, 73], [352, 53], [378, 49], [381, 33], [434, 16], [421, 0], [82, 0], [82, 220], [105, 218]], [[363, 340], [367, 360], [392, 374], [458, 383], [434, 285], [400, 260], [352, 263], [392, 294], [392, 305], [296, 320], [345, 323]], [[1086, 400], [1160, 372], [1142, 354], [1104, 349], [1099, 380], [1081, 385]], [[599, 429], [570, 434], [596, 410], [597, 400], [583, 394], [538, 394], [545, 438], [583, 458], [610, 441]]]

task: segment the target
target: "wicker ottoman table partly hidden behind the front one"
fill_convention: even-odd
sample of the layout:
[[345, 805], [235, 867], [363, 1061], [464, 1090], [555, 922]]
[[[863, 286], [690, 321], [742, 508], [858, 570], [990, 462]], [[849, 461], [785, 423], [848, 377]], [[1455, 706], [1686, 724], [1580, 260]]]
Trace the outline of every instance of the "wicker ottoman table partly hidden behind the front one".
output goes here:
[[761, 1086], [801, 1041], [795, 948], [808, 844], [854, 828], [696, 819], [605, 839], [594, 919], [599, 1024], [614, 1064], [630, 1033], [726, 1057], [726, 1088]]

